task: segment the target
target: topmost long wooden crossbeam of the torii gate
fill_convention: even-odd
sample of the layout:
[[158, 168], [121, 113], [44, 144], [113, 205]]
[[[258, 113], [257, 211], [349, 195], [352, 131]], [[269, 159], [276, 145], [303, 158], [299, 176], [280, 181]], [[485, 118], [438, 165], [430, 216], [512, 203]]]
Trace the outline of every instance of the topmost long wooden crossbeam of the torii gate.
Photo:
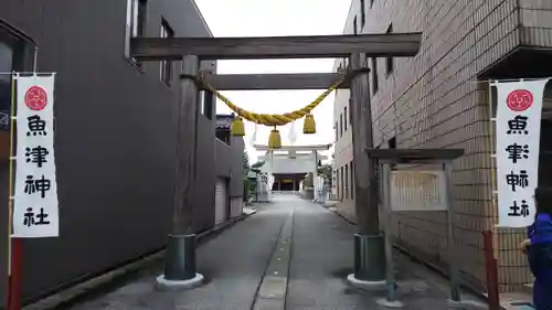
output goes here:
[[421, 33], [267, 38], [136, 38], [132, 57], [142, 61], [338, 58], [353, 53], [368, 57], [415, 56]]

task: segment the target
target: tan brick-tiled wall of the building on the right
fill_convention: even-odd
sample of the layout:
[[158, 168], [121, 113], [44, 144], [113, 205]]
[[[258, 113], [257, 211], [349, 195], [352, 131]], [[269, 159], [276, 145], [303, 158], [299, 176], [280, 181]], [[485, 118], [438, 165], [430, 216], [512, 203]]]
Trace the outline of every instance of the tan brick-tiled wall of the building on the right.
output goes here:
[[[497, 214], [492, 103], [481, 75], [521, 45], [552, 46], [551, 9], [544, 0], [353, 0], [344, 26], [349, 34], [423, 32], [416, 57], [367, 60], [374, 143], [386, 148], [394, 138], [397, 148], [465, 149], [454, 163], [454, 232], [463, 276], [481, 289], [481, 232], [493, 226]], [[445, 221], [436, 212], [397, 213], [393, 232], [397, 243], [446, 264]], [[500, 229], [496, 235], [501, 290], [529, 282], [524, 257], [514, 250], [523, 232]]]

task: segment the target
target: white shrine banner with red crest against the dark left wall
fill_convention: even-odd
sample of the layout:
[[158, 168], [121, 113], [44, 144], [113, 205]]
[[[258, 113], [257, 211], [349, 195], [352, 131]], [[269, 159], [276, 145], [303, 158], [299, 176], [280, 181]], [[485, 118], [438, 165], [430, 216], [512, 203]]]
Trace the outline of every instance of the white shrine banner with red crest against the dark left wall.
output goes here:
[[54, 76], [15, 76], [17, 171], [13, 236], [59, 236]]

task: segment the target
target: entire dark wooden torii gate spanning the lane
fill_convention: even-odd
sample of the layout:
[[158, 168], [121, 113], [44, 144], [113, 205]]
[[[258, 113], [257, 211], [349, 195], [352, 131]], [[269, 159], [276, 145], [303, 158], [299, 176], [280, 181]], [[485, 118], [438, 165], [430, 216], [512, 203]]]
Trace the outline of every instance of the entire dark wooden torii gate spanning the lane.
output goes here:
[[[194, 167], [197, 161], [197, 83], [200, 61], [259, 58], [349, 57], [352, 141], [358, 234], [354, 236], [354, 275], [359, 284], [385, 279], [383, 236], [378, 215], [375, 163], [365, 154], [373, 148], [370, 84], [367, 57], [411, 57], [420, 50], [421, 33], [272, 36], [272, 38], [135, 38], [132, 57], [139, 61], [182, 61], [178, 107], [177, 182], [172, 231], [164, 275], [157, 279], [163, 288], [191, 288], [202, 282], [195, 270], [195, 235], [192, 231]], [[316, 74], [206, 74], [203, 78], [220, 90], [327, 89], [343, 73]]]

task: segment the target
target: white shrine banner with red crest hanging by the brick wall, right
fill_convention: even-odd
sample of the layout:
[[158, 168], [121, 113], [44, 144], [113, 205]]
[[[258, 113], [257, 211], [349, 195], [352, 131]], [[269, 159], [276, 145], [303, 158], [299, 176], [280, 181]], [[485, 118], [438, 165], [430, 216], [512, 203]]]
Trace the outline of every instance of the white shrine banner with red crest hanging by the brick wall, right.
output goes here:
[[544, 86], [549, 79], [497, 86], [498, 226], [527, 227], [534, 221]]

